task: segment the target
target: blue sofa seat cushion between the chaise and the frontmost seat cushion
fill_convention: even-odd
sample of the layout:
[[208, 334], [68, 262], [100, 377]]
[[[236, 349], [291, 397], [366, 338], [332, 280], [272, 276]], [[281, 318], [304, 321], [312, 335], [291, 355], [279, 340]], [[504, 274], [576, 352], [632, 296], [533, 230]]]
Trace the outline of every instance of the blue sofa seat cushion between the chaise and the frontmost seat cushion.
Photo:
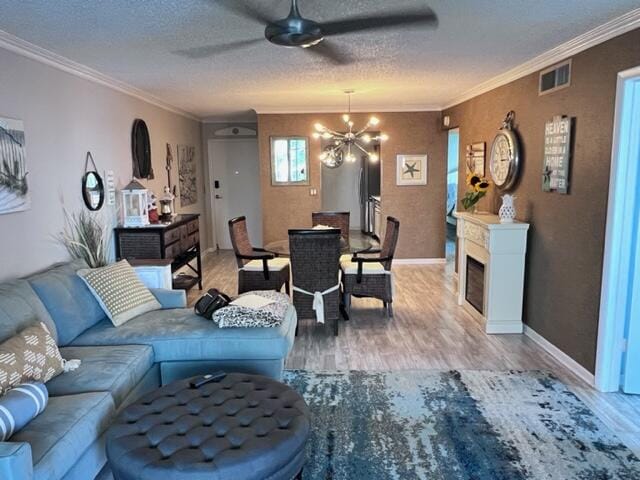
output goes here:
[[82, 363], [47, 383], [49, 395], [110, 392], [116, 408], [153, 365], [153, 349], [148, 345], [63, 347], [60, 351], [65, 358]]

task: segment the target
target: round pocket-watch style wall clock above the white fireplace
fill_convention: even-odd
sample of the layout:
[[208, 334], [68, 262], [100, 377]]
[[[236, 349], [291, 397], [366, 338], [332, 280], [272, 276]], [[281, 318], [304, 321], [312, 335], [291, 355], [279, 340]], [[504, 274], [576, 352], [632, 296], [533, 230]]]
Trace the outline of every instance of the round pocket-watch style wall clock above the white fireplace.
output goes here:
[[513, 129], [515, 112], [507, 113], [502, 128], [498, 130], [489, 156], [489, 171], [496, 187], [500, 190], [513, 188], [520, 176], [520, 141]]

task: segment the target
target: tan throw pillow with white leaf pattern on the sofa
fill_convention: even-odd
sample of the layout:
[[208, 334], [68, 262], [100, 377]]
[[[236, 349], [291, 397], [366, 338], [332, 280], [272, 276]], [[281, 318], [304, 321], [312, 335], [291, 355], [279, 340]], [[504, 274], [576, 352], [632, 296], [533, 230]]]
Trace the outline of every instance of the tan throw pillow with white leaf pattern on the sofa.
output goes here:
[[43, 322], [0, 344], [0, 395], [25, 382], [48, 382], [64, 371], [56, 341]]

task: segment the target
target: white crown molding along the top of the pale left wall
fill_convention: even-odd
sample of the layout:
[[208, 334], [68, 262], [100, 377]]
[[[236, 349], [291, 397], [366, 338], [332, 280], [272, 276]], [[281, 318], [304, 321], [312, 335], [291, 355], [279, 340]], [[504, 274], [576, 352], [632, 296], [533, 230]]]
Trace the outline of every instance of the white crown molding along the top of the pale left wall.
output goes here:
[[97, 70], [74, 62], [73, 60], [34, 45], [33, 43], [27, 42], [26, 40], [16, 37], [4, 30], [0, 30], [0, 48], [17, 53], [23, 57], [30, 58], [31, 60], [44, 63], [45, 65], [70, 73], [71, 75], [80, 77], [84, 80], [108, 87], [117, 92], [124, 93], [125, 95], [137, 98], [138, 100], [142, 100], [143, 102], [162, 108], [163, 110], [167, 110], [171, 113], [175, 113], [198, 122], [200, 121], [200, 118], [196, 115], [166, 103], [144, 90], [129, 85], [128, 83], [121, 82], [120, 80], [116, 80], [115, 78], [111, 78]]

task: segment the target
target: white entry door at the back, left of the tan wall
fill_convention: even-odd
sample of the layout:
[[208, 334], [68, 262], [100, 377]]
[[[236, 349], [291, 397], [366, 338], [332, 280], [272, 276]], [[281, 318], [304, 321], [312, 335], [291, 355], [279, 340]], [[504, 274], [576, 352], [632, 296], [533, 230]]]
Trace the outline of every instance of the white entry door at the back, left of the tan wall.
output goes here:
[[262, 205], [257, 139], [209, 140], [214, 224], [218, 247], [232, 248], [229, 220], [247, 217], [249, 238], [262, 245]]

